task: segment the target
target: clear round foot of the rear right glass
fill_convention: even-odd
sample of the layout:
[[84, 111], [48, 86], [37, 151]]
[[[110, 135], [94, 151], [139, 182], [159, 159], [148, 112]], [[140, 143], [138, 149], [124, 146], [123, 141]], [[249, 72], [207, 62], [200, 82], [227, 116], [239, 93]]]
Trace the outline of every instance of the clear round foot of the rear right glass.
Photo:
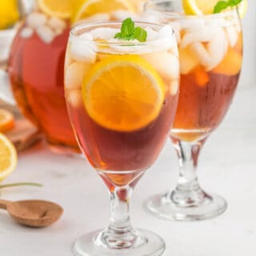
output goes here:
[[150, 210], [150, 213], [176, 221], [214, 218], [225, 212], [226, 208], [226, 200], [218, 195], [210, 195], [198, 206], [179, 206], [162, 195], [156, 195], [146, 202], [146, 209]]

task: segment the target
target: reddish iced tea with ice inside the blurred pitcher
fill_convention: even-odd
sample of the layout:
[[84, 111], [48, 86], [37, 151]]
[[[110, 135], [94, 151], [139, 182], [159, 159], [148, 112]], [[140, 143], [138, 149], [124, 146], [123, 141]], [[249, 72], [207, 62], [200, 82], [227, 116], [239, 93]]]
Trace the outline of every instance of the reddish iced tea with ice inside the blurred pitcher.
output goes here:
[[34, 11], [14, 38], [9, 74], [22, 113], [54, 146], [78, 151], [64, 98], [64, 58], [68, 23]]

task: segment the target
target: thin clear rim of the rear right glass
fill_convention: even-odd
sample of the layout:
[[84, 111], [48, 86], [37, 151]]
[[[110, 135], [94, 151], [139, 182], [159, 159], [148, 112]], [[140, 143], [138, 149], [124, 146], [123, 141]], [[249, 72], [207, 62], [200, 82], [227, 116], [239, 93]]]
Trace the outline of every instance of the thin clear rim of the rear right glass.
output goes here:
[[179, 13], [175, 13], [175, 12], [171, 12], [171, 11], [154, 10], [154, 9], [147, 8], [147, 6], [149, 6], [150, 3], [157, 4], [158, 2], [174, 2], [174, 0], [169, 0], [169, 1], [167, 1], [167, 0], [148, 0], [143, 6], [143, 10], [144, 11], [152, 11], [154, 13], [166, 15], [168, 17], [176, 18], [176, 19], [225, 18], [225, 17], [231, 16], [233, 14], [238, 14], [238, 17], [240, 19], [239, 12], [238, 12], [238, 6], [235, 6], [234, 9], [232, 9], [232, 10], [227, 10], [225, 12], [218, 13], [218, 14], [194, 14], [194, 15], [193, 14], [179, 14]]

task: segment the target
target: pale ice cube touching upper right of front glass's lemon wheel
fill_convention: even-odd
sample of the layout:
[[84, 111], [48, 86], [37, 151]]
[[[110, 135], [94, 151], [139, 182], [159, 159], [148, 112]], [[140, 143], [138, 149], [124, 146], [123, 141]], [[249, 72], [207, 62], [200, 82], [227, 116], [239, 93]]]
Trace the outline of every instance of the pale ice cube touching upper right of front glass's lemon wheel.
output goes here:
[[142, 54], [142, 58], [146, 59], [154, 69], [165, 78], [178, 79], [179, 62], [174, 54], [159, 51], [151, 54]]

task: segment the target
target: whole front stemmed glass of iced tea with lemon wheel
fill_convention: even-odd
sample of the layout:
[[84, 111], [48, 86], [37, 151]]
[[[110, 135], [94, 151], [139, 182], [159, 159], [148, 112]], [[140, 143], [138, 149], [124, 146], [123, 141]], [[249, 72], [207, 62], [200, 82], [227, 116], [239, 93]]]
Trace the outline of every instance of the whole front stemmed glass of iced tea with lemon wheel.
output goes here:
[[70, 32], [65, 64], [70, 121], [111, 200], [110, 225], [79, 238], [75, 255], [161, 255], [165, 249], [158, 235], [134, 230], [129, 202], [174, 121], [178, 48], [170, 26], [140, 22], [135, 28], [131, 19], [127, 24], [142, 42], [121, 22], [82, 24]]

